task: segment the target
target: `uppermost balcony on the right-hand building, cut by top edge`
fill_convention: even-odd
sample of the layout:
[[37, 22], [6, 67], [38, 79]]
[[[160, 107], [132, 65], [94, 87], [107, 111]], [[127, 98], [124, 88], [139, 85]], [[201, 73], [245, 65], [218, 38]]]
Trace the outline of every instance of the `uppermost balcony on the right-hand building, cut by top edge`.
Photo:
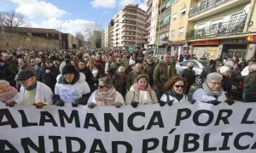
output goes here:
[[251, 0], [205, 0], [195, 8], [189, 10], [189, 20], [201, 20], [213, 14], [219, 14]]

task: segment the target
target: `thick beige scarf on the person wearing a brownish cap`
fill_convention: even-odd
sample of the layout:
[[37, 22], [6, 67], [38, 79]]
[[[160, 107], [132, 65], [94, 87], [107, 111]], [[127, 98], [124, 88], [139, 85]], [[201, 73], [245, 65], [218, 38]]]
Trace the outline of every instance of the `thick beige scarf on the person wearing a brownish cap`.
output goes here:
[[116, 90], [111, 88], [107, 92], [99, 92], [100, 88], [96, 90], [96, 105], [114, 105]]

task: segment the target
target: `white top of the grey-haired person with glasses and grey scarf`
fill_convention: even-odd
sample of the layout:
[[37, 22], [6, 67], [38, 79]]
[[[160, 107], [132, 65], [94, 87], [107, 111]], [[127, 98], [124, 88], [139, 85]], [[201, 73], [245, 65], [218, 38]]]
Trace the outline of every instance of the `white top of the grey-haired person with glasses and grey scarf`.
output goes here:
[[[203, 88], [198, 88], [197, 90], [195, 90], [195, 93], [193, 94], [193, 98], [192, 99], [203, 101], [203, 102], [207, 102], [207, 101], [215, 100], [216, 98], [211, 96], [211, 95], [208, 95]], [[225, 100], [226, 100], [226, 96], [225, 96], [225, 94], [223, 92], [218, 97], [218, 101], [224, 102]]]

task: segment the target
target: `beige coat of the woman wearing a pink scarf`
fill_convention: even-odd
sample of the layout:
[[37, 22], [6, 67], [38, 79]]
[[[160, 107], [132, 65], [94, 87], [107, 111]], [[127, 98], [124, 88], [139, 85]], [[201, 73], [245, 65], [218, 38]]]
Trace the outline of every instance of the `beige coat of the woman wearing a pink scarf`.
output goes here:
[[130, 90], [125, 96], [125, 105], [130, 105], [131, 102], [138, 102], [139, 105], [150, 105], [158, 103], [154, 90], [151, 90], [151, 94], [148, 91], [140, 91], [139, 94], [135, 94], [134, 85], [131, 86]]

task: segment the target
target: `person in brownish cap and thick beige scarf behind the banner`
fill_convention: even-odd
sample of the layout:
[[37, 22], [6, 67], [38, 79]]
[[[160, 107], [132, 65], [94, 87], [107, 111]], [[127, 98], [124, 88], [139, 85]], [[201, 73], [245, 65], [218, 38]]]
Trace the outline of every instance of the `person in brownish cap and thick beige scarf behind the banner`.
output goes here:
[[117, 108], [125, 105], [123, 96], [113, 88], [111, 78], [100, 78], [99, 88], [90, 95], [87, 106], [92, 109], [96, 105], [115, 105]]

